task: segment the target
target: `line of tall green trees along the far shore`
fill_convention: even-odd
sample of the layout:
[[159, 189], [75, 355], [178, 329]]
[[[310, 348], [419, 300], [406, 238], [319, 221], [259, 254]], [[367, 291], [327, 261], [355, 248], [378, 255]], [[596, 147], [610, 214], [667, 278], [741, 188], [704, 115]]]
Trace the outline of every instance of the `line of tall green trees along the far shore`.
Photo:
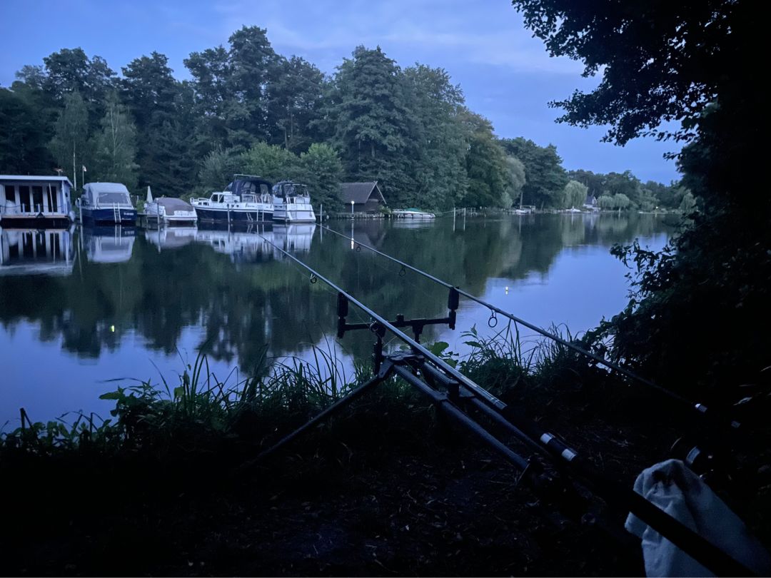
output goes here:
[[601, 207], [648, 210], [677, 208], [687, 193], [629, 171], [568, 172], [552, 145], [498, 138], [446, 70], [402, 69], [379, 47], [359, 46], [325, 76], [244, 26], [227, 47], [192, 52], [184, 65], [191, 79], [180, 81], [153, 52], [119, 76], [76, 48], [24, 66], [0, 88], [0, 168], [59, 167], [75, 180], [85, 167], [86, 180], [172, 197], [259, 174], [308, 183], [330, 210], [342, 208], [344, 180], [378, 180], [392, 207], [433, 210], [580, 207], [588, 195]]

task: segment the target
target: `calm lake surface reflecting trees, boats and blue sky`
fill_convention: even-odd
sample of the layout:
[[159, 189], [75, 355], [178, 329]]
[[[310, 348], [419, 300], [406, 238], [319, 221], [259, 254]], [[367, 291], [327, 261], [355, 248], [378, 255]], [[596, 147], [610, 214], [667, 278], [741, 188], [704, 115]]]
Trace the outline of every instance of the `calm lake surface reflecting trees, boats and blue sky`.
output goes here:
[[[541, 327], [593, 328], [628, 301], [628, 270], [609, 254], [638, 238], [661, 248], [672, 230], [655, 215], [556, 214], [332, 220], [260, 232], [387, 318], [446, 315], [447, 291], [355, 241], [449, 281]], [[355, 244], [354, 244], [355, 247]], [[483, 334], [490, 313], [460, 301], [456, 331], [424, 341], [466, 352], [463, 331]], [[0, 229], [0, 427], [69, 411], [106, 417], [98, 396], [116, 379], [176, 385], [203, 349], [218, 378], [264, 370], [264, 359], [336, 351], [342, 368], [371, 355], [365, 332], [335, 339], [336, 294], [254, 231]], [[367, 321], [351, 307], [349, 322]], [[130, 383], [126, 381], [124, 385]]]

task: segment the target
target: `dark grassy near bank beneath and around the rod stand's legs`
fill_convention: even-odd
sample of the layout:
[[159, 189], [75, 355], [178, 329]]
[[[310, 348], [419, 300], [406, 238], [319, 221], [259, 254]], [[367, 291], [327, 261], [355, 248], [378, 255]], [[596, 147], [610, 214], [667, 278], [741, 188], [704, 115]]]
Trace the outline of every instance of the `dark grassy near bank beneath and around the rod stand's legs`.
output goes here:
[[[673, 416], [560, 346], [513, 331], [433, 351], [631, 485]], [[29, 424], [0, 446], [2, 573], [638, 574], [620, 545], [527, 487], [396, 379], [254, 469], [241, 466], [368, 377], [328, 351], [228, 384], [116, 388], [110, 421]], [[98, 422], [98, 423], [97, 423]], [[623, 516], [618, 516], [619, 522]]]

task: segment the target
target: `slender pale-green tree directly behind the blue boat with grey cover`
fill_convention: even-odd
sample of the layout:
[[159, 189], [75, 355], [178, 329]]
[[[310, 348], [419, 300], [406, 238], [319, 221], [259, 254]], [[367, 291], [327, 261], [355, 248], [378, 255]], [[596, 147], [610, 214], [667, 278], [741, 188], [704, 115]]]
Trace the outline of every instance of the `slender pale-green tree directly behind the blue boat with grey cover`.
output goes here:
[[98, 180], [136, 190], [136, 127], [116, 94], [107, 99], [102, 130], [94, 137], [92, 148]]

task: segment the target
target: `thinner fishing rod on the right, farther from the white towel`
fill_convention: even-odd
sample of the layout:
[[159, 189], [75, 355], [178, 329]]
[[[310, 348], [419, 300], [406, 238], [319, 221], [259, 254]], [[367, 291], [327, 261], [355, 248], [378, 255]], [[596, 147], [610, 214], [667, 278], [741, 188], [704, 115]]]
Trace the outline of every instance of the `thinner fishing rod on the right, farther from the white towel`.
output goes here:
[[[563, 345], [566, 348], [571, 349], [572, 351], [575, 351], [576, 353], [583, 355], [584, 357], [590, 358], [593, 361], [596, 361], [600, 365], [604, 365], [606, 368], [611, 369], [612, 371], [617, 371], [619, 374], [624, 375], [626, 378], [629, 378], [633, 381], [638, 381], [642, 385], [647, 386], [648, 388], [651, 388], [655, 391], [658, 391], [662, 395], [667, 396], [668, 398], [671, 398], [673, 401], [678, 402], [682, 405], [685, 405], [691, 409], [694, 409], [696, 412], [699, 412], [702, 415], [707, 414], [708, 408], [706, 405], [702, 403], [695, 403], [692, 402], [689, 398], [685, 398], [682, 395], [679, 395], [678, 393], [675, 393], [675, 391], [672, 391], [668, 388], [662, 387], [661, 385], [658, 385], [654, 383], [653, 381], [650, 381], [649, 379], [646, 379], [642, 377], [641, 375], [636, 374], [634, 371], [630, 371], [626, 368], [621, 367], [621, 365], [618, 365], [617, 363], [614, 363], [613, 361], [608, 361], [607, 359], [601, 357], [600, 355], [596, 355], [592, 353], [591, 351], [587, 351], [584, 348], [579, 347], [578, 345], [572, 343], [571, 341], [567, 341], [564, 338], [561, 338], [559, 335], [555, 335], [553, 333], [550, 333], [550, 331], [547, 331], [543, 328], [538, 327], [537, 325], [534, 325], [528, 321], [525, 321], [522, 318], [517, 317], [516, 315], [510, 313], [509, 311], [504, 311], [500, 307], [497, 307], [493, 305], [492, 303], [489, 303], [488, 301], [484, 301], [480, 297], [476, 297], [476, 295], [469, 293], [468, 291], [464, 291], [460, 287], [453, 286], [453, 284], [448, 283], [447, 281], [443, 281], [443, 279], [439, 279], [439, 277], [435, 277], [430, 273], [427, 273], [426, 271], [423, 271], [422, 269], [419, 269], [417, 267], [413, 267], [409, 263], [406, 263], [405, 261], [402, 261], [400, 259], [397, 259], [396, 257], [392, 257], [391, 255], [387, 253], [383, 253], [381, 250], [375, 249], [375, 247], [371, 247], [368, 244], [362, 243], [360, 241], [357, 241], [353, 239], [353, 237], [347, 237], [345, 234], [340, 233], [339, 231], [336, 231], [324, 224], [321, 225], [322, 229], [328, 230], [330, 233], [333, 233], [335, 235], [338, 235], [338, 237], [342, 237], [345, 240], [352, 240], [356, 245], [359, 247], [364, 247], [367, 250], [372, 251], [372, 253], [378, 254], [381, 257], [385, 257], [386, 259], [392, 260], [394, 263], [399, 264], [402, 266], [402, 271], [404, 269], [409, 269], [410, 271], [413, 271], [422, 277], [426, 277], [426, 279], [429, 279], [430, 281], [433, 281], [436, 284], [442, 285], [443, 287], [447, 287], [450, 289], [455, 289], [459, 294], [463, 295], [463, 297], [466, 297], [467, 299], [470, 299], [471, 301], [475, 301], [476, 303], [483, 305], [483, 307], [487, 307], [490, 311], [493, 312], [491, 319], [494, 319], [496, 314], [500, 314], [505, 318], [510, 319], [511, 321], [514, 321], [515, 323], [518, 323], [532, 331], [535, 331], [537, 334], [543, 335], [545, 338], [551, 339], [558, 344]], [[401, 274], [401, 271], [400, 271]], [[494, 327], [494, 326], [493, 326]], [[712, 415], [710, 413], [710, 415]], [[737, 429], [741, 425], [736, 420], [732, 420], [730, 422], [730, 425], [732, 428]]]

